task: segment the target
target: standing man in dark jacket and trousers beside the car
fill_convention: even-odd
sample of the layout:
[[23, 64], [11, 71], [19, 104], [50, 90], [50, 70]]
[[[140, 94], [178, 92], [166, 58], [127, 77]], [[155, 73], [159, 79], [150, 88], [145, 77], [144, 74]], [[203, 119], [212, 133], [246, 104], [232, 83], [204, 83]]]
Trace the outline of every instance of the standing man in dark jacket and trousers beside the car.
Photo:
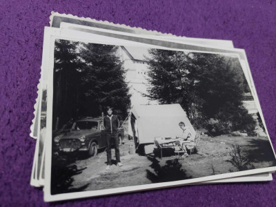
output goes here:
[[106, 141], [107, 141], [107, 157], [108, 157], [108, 166], [106, 166], [106, 170], [110, 169], [111, 166], [111, 145], [112, 143], [115, 146], [115, 155], [117, 166], [123, 166], [120, 161], [120, 152], [119, 152], [119, 138], [118, 138], [118, 128], [119, 128], [119, 119], [116, 115], [112, 115], [112, 108], [107, 108], [107, 113], [105, 117], [103, 117], [103, 126], [106, 132]]

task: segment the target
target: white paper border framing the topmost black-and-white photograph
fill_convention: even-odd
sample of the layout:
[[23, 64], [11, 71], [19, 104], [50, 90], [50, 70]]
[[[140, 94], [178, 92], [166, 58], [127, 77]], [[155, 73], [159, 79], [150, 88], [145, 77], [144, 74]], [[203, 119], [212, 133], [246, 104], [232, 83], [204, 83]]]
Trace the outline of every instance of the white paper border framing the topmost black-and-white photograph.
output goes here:
[[[276, 166], [273, 167], [268, 167], [268, 168], [260, 168], [260, 169], [253, 169], [253, 170], [245, 170], [245, 171], [240, 171], [240, 172], [229, 172], [229, 173], [224, 173], [221, 175], [211, 175], [211, 176], [206, 176], [206, 177], [199, 177], [199, 178], [194, 178], [194, 179], [186, 179], [182, 181], [169, 181], [165, 183], [157, 183], [157, 184], [144, 184], [144, 185], [139, 185], [139, 186], [126, 186], [126, 187], [121, 187], [121, 188], [111, 188], [111, 189], [104, 189], [104, 190], [90, 190], [90, 191], [84, 191], [84, 192], [77, 192], [77, 193], [62, 193], [59, 195], [51, 195], [50, 194], [50, 185], [51, 185], [51, 160], [52, 160], [52, 92], [53, 92], [53, 68], [54, 68], [54, 48], [55, 48], [55, 40], [56, 39], [65, 39], [69, 41], [82, 41], [82, 42], [89, 42], [89, 43], [99, 43], [99, 44], [109, 44], [109, 45], [121, 45], [120, 43], [108, 43], [108, 42], [99, 42], [99, 41], [87, 41], [83, 39], [75, 39], [75, 38], [63, 38], [63, 37], [55, 37], [52, 36], [50, 38], [50, 70], [48, 71], [49, 75], [49, 80], [48, 80], [48, 103], [47, 103], [47, 137], [46, 137], [46, 148], [50, 150], [46, 154], [46, 184], [45, 184], [45, 194], [44, 194], [44, 199], [45, 201], [57, 201], [57, 200], [63, 200], [63, 199], [75, 199], [75, 198], [82, 198], [82, 197], [95, 197], [99, 195], [111, 195], [111, 194], [117, 194], [117, 193], [129, 193], [129, 192], [135, 192], [138, 190], [149, 190], [149, 189], [156, 189], [156, 188], [166, 188], [166, 187], [172, 187], [172, 186], [181, 186], [183, 184], [191, 184], [195, 182], [201, 182], [201, 181], [210, 181], [213, 179], [224, 179], [228, 177], [237, 177], [237, 176], [242, 176], [242, 175], [252, 175], [256, 173], [261, 173], [261, 172], [271, 172], [276, 170]], [[143, 47], [143, 46], [140, 46]], [[150, 48], [158, 48], [155, 46], [151, 46]], [[167, 50], [174, 50], [174, 49], [168, 49]], [[177, 50], [177, 51], [188, 51], [188, 50]], [[189, 50], [190, 51], [190, 50]], [[190, 51], [193, 52], [193, 51]], [[199, 51], [195, 51], [199, 52]], [[203, 52], [203, 53], [213, 53], [213, 54], [218, 54], [221, 52]], [[238, 56], [237, 56], [238, 57]], [[239, 57], [238, 57], [239, 58]], [[264, 123], [265, 125], [265, 123]], [[269, 134], [266, 130], [266, 133], [269, 138]], [[274, 152], [275, 156], [275, 151], [273, 149], [273, 146], [270, 141], [270, 146]]]

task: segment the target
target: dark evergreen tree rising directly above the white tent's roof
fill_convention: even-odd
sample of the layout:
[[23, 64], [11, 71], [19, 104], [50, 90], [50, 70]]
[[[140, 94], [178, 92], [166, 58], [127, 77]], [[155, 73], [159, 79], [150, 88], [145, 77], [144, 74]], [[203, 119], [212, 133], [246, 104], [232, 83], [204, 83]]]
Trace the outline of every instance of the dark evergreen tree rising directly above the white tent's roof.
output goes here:
[[[186, 55], [184, 52], [150, 49], [148, 61], [148, 95], [159, 103], [181, 103], [186, 82]], [[188, 81], [188, 80], [187, 80]]]

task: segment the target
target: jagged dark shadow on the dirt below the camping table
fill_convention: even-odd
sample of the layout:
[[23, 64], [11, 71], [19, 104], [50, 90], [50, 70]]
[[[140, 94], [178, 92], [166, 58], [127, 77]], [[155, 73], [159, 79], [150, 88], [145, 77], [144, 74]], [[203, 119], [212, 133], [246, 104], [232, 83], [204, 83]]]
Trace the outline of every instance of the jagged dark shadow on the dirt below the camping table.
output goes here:
[[148, 156], [148, 159], [152, 162], [150, 170], [146, 170], [146, 177], [152, 181], [152, 183], [177, 181], [181, 179], [191, 179], [191, 176], [186, 175], [186, 170], [182, 170], [182, 165], [179, 163], [179, 159], [170, 159], [166, 161], [166, 165], [161, 166], [156, 157]]

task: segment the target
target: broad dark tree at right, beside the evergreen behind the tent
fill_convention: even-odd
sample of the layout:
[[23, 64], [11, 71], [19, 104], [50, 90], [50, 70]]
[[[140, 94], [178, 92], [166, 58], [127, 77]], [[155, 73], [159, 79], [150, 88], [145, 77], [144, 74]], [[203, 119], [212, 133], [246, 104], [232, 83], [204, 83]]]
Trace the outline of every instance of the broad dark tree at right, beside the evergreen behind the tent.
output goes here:
[[242, 83], [236, 70], [230, 68], [230, 60], [216, 54], [193, 53], [190, 62], [188, 79], [196, 80], [193, 88], [204, 100], [201, 110], [207, 118], [214, 118], [228, 102], [235, 108], [242, 106]]

